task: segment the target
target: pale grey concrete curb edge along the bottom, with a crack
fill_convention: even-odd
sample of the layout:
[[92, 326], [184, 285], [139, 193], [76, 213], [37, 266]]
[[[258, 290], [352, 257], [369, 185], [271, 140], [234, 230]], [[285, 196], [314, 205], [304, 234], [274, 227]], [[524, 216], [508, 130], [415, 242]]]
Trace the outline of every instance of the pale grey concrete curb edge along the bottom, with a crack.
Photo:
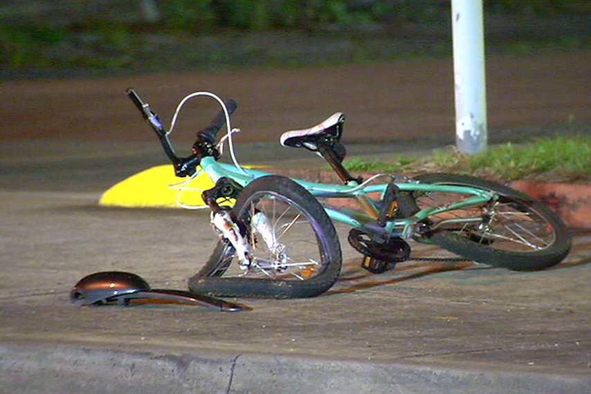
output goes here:
[[3, 392], [21, 394], [583, 394], [591, 385], [589, 375], [282, 355], [134, 353], [51, 344], [0, 344], [0, 380]]

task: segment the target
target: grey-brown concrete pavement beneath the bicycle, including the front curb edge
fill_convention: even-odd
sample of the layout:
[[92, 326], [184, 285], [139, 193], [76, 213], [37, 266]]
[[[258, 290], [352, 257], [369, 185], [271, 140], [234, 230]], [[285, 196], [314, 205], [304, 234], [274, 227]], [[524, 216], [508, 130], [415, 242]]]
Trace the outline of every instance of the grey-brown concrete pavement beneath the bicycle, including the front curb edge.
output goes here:
[[590, 232], [542, 272], [407, 261], [372, 275], [339, 229], [345, 267], [322, 297], [73, 306], [71, 286], [104, 270], [185, 289], [212, 250], [207, 212], [96, 205], [123, 172], [162, 162], [156, 149], [3, 156], [0, 393], [589, 392]]

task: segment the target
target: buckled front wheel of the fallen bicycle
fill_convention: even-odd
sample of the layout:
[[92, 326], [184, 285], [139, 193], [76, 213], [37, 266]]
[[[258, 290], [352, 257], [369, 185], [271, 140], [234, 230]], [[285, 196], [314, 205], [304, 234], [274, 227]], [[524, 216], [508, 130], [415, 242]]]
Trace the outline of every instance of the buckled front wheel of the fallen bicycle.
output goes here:
[[264, 176], [242, 190], [233, 215], [251, 245], [241, 266], [235, 248], [219, 241], [189, 288], [217, 297], [314, 297], [336, 281], [340, 243], [329, 216], [309, 191], [284, 176]]

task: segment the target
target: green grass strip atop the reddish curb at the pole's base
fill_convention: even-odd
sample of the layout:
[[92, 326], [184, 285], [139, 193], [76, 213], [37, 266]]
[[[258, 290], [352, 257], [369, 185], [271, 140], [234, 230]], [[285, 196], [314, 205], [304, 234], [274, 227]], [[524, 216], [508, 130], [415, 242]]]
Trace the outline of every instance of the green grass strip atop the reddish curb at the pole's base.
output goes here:
[[538, 138], [528, 144], [496, 145], [482, 155], [466, 155], [455, 148], [435, 151], [427, 160], [397, 158], [394, 162], [345, 161], [350, 171], [455, 172], [495, 180], [537, 179], [555, 182], [591, 181], [591, 137], [568, 135]]

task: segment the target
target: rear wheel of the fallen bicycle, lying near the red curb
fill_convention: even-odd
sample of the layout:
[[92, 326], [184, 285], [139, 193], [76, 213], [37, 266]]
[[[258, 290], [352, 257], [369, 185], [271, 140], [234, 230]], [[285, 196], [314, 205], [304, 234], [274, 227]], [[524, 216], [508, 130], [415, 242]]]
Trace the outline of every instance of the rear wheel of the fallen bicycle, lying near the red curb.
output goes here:
[[[415, 178], [437, 185], [462, 185], [495, 191], [494, 203], [471, 205], [430, 216], [433, 232], [422, 241], [478, 263], [510, 270], [540, 270], [563, 261], [570, 251], [566, 225], [547, 205], [497, 182], [452, 173]], [[419, 209], [455, 203], [468, 195], [412, 192]], [[417, 239], [421, 241], [421, 239]]]

